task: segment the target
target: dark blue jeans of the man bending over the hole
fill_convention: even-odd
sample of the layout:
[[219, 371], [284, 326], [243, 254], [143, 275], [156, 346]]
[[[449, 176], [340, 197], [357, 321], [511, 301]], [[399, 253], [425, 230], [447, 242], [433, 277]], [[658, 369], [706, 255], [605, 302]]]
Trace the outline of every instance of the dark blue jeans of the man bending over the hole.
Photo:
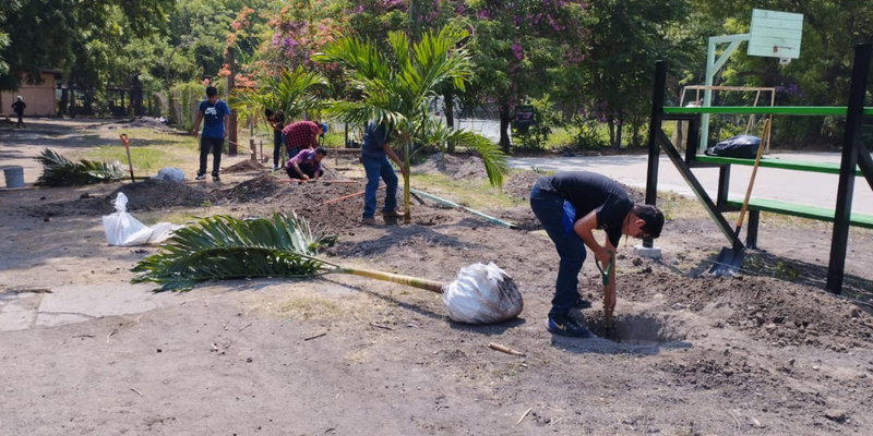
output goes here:
[[575, 231], [564, 234], [561, 218], [564, 213], [564, 198], [554, 192], [540, 191], [536, 184], [530, 190], [530, 208], [537, 216], [546, 233], [554, 242], [558, 256], [558, 280], [554, 284], [554, 298], [549, 317], [570, 314], [578, 296], [578, 275], [585, 262], [585, 243]]

